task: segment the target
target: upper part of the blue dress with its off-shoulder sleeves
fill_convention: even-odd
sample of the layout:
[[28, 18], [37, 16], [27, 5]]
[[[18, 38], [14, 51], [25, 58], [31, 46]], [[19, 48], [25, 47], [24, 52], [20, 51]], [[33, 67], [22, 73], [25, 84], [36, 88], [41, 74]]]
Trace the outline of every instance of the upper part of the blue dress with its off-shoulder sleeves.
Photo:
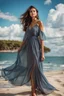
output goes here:
[[23, 40], [28, 40], [32, 36], [35, 36], [37, 38], [39, 36], [42, 40], [46, 40], [46, 36], [44, 32], [40, 30], [37, 24], [35, 24], [32, 28], [29, 28], [29, 27], [27, 28]]

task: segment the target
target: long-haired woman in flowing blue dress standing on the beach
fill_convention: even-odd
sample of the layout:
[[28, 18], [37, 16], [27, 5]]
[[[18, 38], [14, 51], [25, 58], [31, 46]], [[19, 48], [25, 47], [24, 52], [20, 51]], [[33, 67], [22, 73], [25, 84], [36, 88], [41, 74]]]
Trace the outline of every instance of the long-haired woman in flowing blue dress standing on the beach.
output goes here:
[[42, 94], [49, 94], [56, 90], [43, 74], [44, 40], [43, 23], [39, 20], [38, 10], [30, 6], [21, 15], [21, 23], [25, 35], [21, 47], [18, 50], [15, 63], [2, 69], [2, 76], [16, 86], [22, 86], [31, 82], [32, 96], [36, 96], [36, 90]]

